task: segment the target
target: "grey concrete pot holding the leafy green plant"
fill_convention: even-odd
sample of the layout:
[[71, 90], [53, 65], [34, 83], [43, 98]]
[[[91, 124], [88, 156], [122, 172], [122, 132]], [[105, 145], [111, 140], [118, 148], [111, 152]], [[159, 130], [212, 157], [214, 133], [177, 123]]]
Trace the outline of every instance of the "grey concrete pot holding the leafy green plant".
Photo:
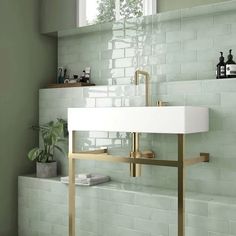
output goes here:
[[57, 176], [57, 162], [36, 162], [36, 176], [38, 178], [51, 178]]

